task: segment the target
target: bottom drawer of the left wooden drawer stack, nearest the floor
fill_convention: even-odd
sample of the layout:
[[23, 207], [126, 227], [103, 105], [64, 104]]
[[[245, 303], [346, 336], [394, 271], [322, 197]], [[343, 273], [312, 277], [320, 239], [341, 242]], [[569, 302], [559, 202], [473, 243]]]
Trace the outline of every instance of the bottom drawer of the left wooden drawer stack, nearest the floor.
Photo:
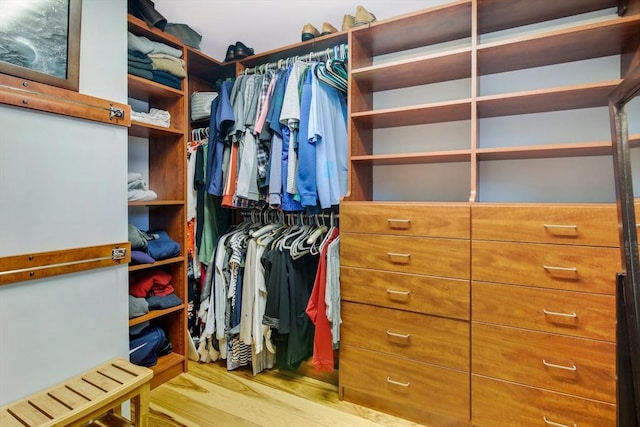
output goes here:
[[344, 400], [424, 425], [469, 425], [469, 374], [350, 346], [340, 348]]

